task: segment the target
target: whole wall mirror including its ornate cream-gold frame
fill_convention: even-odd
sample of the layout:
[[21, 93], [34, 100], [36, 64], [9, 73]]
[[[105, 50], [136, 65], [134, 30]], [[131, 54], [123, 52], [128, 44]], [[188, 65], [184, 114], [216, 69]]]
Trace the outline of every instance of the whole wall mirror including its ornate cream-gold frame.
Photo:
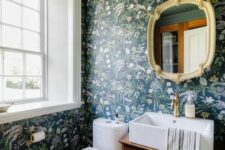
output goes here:
[[168, 0], [150, 16], [148, 57], [157, 75], [176, 83], [201, 76], [215, 53], [210, 2]]

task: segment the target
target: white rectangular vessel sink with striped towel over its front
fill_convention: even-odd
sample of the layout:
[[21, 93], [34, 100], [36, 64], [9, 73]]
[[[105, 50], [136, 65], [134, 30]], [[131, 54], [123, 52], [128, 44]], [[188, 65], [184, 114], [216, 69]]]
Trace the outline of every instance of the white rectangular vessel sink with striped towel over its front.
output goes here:
[[201, 134], [201, 150], [213, 150], [214, 122], [206, 119], [175, 118], [168, 114], [147, 112], [130, 121], [130, 142], [167, 150], [169, 128], [195, 131]]

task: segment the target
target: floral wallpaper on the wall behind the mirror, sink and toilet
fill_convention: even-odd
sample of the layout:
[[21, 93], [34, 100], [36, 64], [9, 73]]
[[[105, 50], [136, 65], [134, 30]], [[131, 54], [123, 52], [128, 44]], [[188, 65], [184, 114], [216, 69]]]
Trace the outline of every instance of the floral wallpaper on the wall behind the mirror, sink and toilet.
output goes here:
[[82, 2], [83, 93], [96, 117], [119, 113], [129, 121], [146, 111], [172, 113], [175, 92], [181, 95], [182, 107], [192, 92], [196, 116], [215, 121], [215, 149], [225, 149], [225, 1], [212, 1], [217, 27], [212, 67], [180, 85], [158, 79], [147, 60], [148, 12], [163, 0]]

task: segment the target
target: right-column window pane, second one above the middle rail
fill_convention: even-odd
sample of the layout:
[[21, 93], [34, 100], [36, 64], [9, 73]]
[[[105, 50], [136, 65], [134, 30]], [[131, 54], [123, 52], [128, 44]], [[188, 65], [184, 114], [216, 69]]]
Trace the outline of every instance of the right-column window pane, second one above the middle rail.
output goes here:
[[32, 9], [23, 8], [23, 27], [34, 31], [40, 31], [40, 13]]

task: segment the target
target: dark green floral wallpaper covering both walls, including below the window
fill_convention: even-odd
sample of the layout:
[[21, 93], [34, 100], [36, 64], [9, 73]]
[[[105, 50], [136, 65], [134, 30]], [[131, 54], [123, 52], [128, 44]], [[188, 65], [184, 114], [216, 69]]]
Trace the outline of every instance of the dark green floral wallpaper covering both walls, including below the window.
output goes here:
[[[162, 0], [82, 0], [82, 96], [80, 109], [0, 125], [1, 150], [80, 150], [92, 143], [92, 120], [115, 113], [129, 121], [146, 111], [172, 113], [171, 99], [196, 97], [197, 117], [215, 121], [215, 150], [225, 149], [225, 1], [213, 0], [216, 57], [205, 74], [180, 85], [158, 79], [147, 61], [146, 29]], [[182, 114], [183, 114], [183, 110]], [[46, 140], [30, 147], [32, 132]]]

